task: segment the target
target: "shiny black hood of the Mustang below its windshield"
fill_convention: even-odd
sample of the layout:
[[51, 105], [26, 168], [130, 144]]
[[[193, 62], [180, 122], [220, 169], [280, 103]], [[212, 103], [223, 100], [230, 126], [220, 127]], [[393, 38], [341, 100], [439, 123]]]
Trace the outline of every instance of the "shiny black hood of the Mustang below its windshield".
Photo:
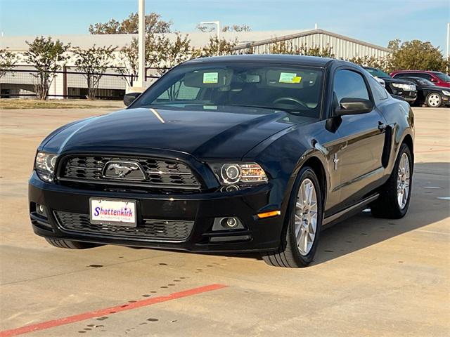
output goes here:
[[[217, 109], [217, 107], [213, 107]], [[245, 107], [228, 110], [135, 108], [69, 124], [52, 133], [48, 152], [151, 152], [169, 150], [198, 159], [240, 159], [274, 133], [314, 121], [287, 112]]]

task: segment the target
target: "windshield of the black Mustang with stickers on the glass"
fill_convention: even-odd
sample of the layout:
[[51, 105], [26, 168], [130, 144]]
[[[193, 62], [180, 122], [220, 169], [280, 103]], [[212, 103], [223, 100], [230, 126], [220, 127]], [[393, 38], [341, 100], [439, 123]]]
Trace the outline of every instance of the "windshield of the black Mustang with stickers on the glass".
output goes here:
[[242, 106], [318, 118], [322, 72], [316, 67], [266, 63], [181, 65], [153, 84], [131, 107], [214, 111]]

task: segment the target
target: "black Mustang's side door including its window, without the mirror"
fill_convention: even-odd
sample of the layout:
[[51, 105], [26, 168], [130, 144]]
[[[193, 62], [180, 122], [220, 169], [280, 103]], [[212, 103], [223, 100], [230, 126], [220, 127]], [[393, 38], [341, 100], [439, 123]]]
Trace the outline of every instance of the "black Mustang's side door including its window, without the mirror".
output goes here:
[[[368, 79], [354, 68], [341, 67], [333, 80], [335, 102], [342, 98], [362, 98], [373, 101]], [[339, 147], [334, 154], [334, 169], [339, 171], [340, 206], [355, 204], [383, 177], [383, 145], [385, 119], [375, 104], [364, 114], [343, 115], [338, 127]]]

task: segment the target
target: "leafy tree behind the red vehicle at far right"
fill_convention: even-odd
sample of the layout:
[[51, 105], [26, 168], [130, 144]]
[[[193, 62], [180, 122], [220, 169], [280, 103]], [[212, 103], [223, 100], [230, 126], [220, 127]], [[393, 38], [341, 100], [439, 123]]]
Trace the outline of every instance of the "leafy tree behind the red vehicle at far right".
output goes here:
[[446, 60], [439, 48], [420, 40], [390, 41], [392, 70], [437, 70], [446, 71]]

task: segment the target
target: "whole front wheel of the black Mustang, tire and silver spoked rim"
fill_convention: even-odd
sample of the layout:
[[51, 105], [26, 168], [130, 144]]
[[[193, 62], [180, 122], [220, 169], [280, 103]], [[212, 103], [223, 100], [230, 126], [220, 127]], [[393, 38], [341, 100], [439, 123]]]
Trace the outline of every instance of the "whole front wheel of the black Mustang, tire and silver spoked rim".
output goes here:
[[262, 258], [276, 267], [306, 267], [316, 253], [322, 225], [322, 197], [316, 173], [304, 167], [295, 181], [278, 250]]

